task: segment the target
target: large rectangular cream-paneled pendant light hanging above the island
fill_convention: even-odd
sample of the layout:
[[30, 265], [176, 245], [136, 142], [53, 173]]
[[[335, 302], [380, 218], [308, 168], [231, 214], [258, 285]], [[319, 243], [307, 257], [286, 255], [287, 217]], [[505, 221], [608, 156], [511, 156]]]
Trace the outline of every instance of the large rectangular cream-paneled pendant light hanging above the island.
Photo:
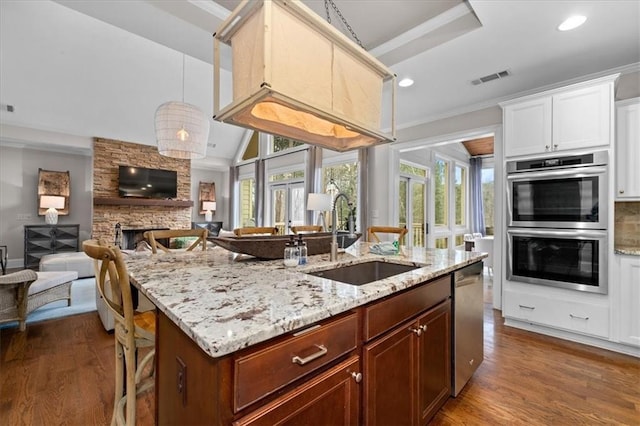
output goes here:
[[[220, 109], [220, 43], [233, 101]], [[391, 120], [382, 131], [383, 88]], [[349, 151], [395, 140], [395, 75], [298, 0], [243, 1], [214, 35], [214, 119]]]

